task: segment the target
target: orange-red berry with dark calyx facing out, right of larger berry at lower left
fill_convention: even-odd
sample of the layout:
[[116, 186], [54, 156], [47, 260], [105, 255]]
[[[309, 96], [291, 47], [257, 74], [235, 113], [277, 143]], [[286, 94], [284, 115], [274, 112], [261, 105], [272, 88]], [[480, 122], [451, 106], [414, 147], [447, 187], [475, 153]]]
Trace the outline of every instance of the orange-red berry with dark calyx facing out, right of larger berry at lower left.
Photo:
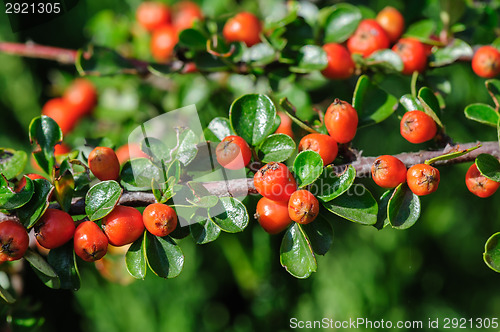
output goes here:
[[142, 221], [151, 234], [164, 237], [177, 227], [177, 214], [168, 205], [154, 203], [144, 209]]

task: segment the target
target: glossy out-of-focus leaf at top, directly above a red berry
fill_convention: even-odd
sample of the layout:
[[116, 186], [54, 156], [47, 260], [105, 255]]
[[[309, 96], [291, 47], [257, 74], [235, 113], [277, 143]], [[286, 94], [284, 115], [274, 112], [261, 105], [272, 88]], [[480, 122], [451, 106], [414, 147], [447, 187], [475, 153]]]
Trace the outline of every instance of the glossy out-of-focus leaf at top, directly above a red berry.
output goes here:
[[326, 19], [325, 43], [343, 43], [349, 38], [361, 22], [359, 9], [348, 3], [332, 6], [332, 12]]

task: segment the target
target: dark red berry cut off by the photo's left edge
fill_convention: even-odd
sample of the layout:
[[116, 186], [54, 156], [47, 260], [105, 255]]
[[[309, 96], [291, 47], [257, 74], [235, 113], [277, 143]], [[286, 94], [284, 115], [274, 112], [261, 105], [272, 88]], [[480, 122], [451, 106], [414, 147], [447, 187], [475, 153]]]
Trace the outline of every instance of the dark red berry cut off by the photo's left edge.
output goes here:
[[23, 225], [14, 220], [0, 222], [0, 263], [20, 259], [28, 245], [29, 237]]

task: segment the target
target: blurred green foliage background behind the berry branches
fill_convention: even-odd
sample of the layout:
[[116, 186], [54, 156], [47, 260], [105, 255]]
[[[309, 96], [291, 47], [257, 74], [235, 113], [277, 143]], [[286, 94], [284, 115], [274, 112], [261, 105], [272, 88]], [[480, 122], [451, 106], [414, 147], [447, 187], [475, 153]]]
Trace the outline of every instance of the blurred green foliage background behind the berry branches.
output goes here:
[[[440, 1], [350, 2], [375, 12], [393, 5], [402, 11], [407, 24], [423, 17], [439, 18]], [[72, 49], [95, 42], [150, 60], [148, 36], [131, 32], [136, 29], [134, 12], [139, 3], [80, 1], [62, 17], [19, 33], [12, 33], [2, 11], [0, 39]], [[208, 17], [244, 8], [264, 18], [279, 15], [283, 8], [276, 0], [199, 3]], [[490, 5], [498, 9], [499, 1], [490, 1]], [[496, 16], [498, 19], [498, 12]], [[478, 44], [492, 42], [493, 31], [482, 28], [480, 20], [480, 16], [465, 16], [462, 22], [470, 26], [462, 37]], [[30, 120], [77, 75], [72, 66], [0, 54], [0, 146], [29, 151]], [[398, 97], [409, 93], [409, 78], [375, 75], [374, 79]], [[265, 80], [240, 75], [222, 79], [174, 75], [161, 89], [133, 76], [91, 80], [99, 90], [99, 105], [92, 118], [65, 138], [72, 147], [81, 145], [82, 137], [101, 136], [119, 146], [138, 123], [193, 103], [206, 124], [214, 116], [227, 116], [231, 101], [243, 93], [270, 93]], [[325, 105], [336, 97], [350, 100], [356, 78], [319, 82], [285, 85], [277, 95], [288, 96], [307, 112], [311, 104]], [[484, 80], [473, 75], [470, 63], [431, 70], [421, 83], [444, 87], [447, 107], [442, 119], [457, 142], [496, 139], [493, 129], [464, 117], [467, 104], [491, 104]], [[354, 146], [367, 156], [425, 148], [404, 141], [398, 127], [397, 115], [392, 116], [360, 130]], [[286, 331], [292, 317], [421, 320], [424, 326], [428, 318], [500, 318], [500, 276], [482, 260], [486, 239], [500, 230], [499, 196], [479, 199], [470, 194], [464, 183], [468, 166], [441, 169], [439, 190], [422, 198], [422, 216], [409, 230], [377, 231], [330, 215], [333, 247], [318, 258], [318, 272], [307, 280], [293, 278], [280, 266], [281, 237], [269, 236], [252, 220], [242, 234], [222, 234], [211, 244], [196, 246], [190, 238], [182, 240], [185, 267], [173, 280], [149, 273], [145, 281], [124, 286], [107, 281], [91, 264], [80, 264], [82, 288], [54, 291], [45, 288], [27, 268], [22, 272], [23, 300], [2, 309], [11, 310], [19, 321], [42, 319], [41, 331]], [[371, 180], [363, 182], [374, 194], [382, 193]], [[256, 199], [250, 198], [250, 214], [255, 204]]]

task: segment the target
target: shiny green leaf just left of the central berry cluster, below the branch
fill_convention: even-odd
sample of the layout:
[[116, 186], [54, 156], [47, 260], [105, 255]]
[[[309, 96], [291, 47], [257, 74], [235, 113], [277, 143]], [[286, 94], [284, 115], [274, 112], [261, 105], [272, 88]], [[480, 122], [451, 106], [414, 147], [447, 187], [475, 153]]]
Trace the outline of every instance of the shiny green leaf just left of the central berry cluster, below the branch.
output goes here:
[[[222, 209], [222, 213], [220, 212]], [[217, 212], [213, 212], [217, 211]], [[248, 212], [239, 200], [232, 197], [221, 197], [219, 208], [213, 208], [208, 211], [211, 220], [220, 227], [221, 230], [228, 233], [242, 232], [248, 225]]]

